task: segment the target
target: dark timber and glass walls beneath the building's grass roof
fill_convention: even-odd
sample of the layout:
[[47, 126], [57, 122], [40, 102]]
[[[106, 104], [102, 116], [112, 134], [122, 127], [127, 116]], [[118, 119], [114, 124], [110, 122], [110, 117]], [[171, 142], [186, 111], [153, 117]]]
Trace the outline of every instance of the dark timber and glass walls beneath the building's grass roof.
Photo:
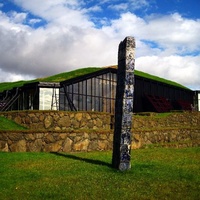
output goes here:
[[[100, 71], [68, 79], [61, 83], [36, 82], [0, 93], [0, 111], [66, 110], [114, 113], [117, 70]], [[56, 94], [55, 94], [55, 93]], [[178, 101], [200, 111], [200, 91], [174, 87], [135, 75], [134, 112], [153, 111], [147, 95], [164, 97], [173, 110], [182, 109]]]

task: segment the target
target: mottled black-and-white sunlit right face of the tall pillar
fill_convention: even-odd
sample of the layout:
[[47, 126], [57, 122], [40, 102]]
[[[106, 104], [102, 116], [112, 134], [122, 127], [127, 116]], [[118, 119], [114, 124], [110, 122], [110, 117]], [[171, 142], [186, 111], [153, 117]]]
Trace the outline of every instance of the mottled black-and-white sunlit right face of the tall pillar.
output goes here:
[[123, 98], [123, 115], [121, 127], [120, 164], [121, 171], [131, 168], [131, 126], [134, 97], [134, 38], [127, 37], [125, 52], [125, 90]]

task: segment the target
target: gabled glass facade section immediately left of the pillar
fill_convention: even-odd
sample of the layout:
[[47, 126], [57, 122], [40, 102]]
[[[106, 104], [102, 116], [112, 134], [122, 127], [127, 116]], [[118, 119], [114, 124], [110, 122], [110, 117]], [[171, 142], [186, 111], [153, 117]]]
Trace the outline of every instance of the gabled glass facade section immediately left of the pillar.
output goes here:
[[60, 89], [60, 110], [85, 110], [114, 113], [117, 75], [106, 73]]

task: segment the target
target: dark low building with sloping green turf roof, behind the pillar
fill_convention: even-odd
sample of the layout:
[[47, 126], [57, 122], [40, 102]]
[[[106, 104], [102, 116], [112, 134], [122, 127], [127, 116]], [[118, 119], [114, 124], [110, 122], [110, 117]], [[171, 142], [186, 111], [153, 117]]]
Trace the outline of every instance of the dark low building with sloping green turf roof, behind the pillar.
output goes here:
[[[27, 82], [0, 83], [0, 111], [114, 113], [116, 83], [116, 66], [83, 68]], [[191, 110], [191, 105], [198, 103], [197, 95], [176, 82], [135, 70], [134, 112]]]

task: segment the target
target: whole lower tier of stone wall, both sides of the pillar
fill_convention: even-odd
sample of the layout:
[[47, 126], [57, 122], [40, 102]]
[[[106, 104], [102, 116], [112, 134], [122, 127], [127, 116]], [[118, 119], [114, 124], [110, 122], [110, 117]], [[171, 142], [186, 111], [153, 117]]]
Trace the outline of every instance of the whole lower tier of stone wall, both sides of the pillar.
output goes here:
[[[0, 151], [71, 152], [112, 150], [113, 131], [1, 131]], [[167, 147], [200, 146], [199, 129], [133, 131], [132, 149], [148, 145]]]

